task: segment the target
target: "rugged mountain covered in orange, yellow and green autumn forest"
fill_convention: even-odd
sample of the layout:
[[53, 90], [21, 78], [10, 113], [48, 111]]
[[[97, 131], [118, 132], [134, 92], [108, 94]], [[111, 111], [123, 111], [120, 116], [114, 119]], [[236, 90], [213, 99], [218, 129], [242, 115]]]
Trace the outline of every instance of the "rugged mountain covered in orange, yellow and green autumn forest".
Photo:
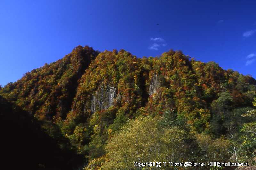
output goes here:
[[[152, 123], [151, 127], [165, 129], [164, 133], [184, 134], [180, 138], [186, 136], [185, 133], [190, 134], [182, 141], [190, 148], [186, 152], [197, 150], [189, 153], [197, 162], [213, 161], [205, 158], [210, 152], [203, 147], [205, 138], [209, 139], [207, 142], [212, 141], [207, 145], [212, 147], [216, 141], [224, 141], [227, 147], [223, 152], [227, 160], [233, 159], [233, 152], [228, 151], [232, 146], [229, 136], [233, 135], [233, 142], [236, 137], [236, 145], [241, 151], [239, 160], [250, 158], [253, 163], [256, 152], [251, 150], [256, 147], [253, 142], [247, 149], [243, 145], [250, 133], [243, 128], [254, 121], [244, 114], [253, 109], [255, 96], [256, 80], [251, 76], [223, 70], [214, 62], [196, 61], [181, 51], [170, 50], [159, 57], [137, 58], [123, 49], [99, 52], [88, 46], [77, 46], [64, 58], [27, 72], [20, 80], [0, 90], [2, 105], [7, 102], [10, 106], [8, 111], [3, 111], [5, 106], [1, 106], [2, 115], [8, 116], [4, 126], [26, 124], [25, 129], [19, 128], [28, 134], [25, 141], [36, 131], [44, 134], [44, 144], [36, 141], [41, 138], [39, 135], [33, 144], [26, 145], [38, 152], [45, 151], [40, 149], [42, 145], [49, 146], [47, 153], [52, 155], [51, 160], [56, 159], [55, 164], [44, 159], [32, 161], [42, 169], [50, 166], [64, 169], [66, 164], [69, 169], [71, 166], [106, 169], [104, 165], [115, 169], [117, 167], [110, 162], [119, 158], [108, 159], [115, 150], [109, 149], [110, 144], [118, 141], [124, 132], [128, 133], [129, 128], [137, 127], [136, 123], [142, 123], [142, 129], [146, 127], [144, 119]], [[22, 118], [23, 115], [26, 118]], [[27, 123], [31, 120], [36, 122], [36, 128], [35, 124]], [[11, 130], [7, 132], [12, 133]], [[22, 138], [20, 133], [14, 133], [12, 140]], [[126, 138], [123, 136], [120, 140]], [[215, 152], [223, 158], [216, 148], [210, 154]], [[66, 161], [60, 161], [60, 155], [64, 155]], [[185, 156], [181, 158], [187, 160]], [[122, 161], [124, 159], [118, 162]], [[119, 168], [135, 167], [127, 163]]]

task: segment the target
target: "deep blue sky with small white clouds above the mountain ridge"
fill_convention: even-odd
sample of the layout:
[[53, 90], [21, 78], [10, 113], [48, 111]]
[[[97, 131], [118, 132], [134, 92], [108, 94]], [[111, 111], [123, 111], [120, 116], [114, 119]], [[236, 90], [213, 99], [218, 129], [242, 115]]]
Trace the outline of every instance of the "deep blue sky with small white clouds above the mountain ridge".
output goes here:
[[169, 49], [256, 78], [256, 1], [0, 1], [0, 84], [77, 45], [137, 57]]

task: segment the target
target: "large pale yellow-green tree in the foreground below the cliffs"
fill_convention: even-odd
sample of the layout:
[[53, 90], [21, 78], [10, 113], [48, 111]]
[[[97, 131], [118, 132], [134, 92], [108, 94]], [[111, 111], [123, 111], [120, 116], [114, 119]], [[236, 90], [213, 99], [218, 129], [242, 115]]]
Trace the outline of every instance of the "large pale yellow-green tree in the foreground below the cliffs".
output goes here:
[[136, 161], [159, 161], [159, 136], [156, 118], [130, 120], [107, 144], [107, 161], [102, 169], [135, 169]]

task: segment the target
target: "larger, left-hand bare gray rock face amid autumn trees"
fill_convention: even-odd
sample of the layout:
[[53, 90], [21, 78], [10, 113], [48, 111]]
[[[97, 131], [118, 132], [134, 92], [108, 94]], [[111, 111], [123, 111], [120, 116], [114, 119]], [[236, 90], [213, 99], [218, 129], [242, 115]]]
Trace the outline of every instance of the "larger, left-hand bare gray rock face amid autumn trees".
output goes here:
[[91, 100], [91, 112], [94, 113], [96, 110], [108, 109], [113, 105], [114, 99], [116, 97], [116, 88], [107, 87], [104, 89], [100, 88], [96, 95], [92, 96]]

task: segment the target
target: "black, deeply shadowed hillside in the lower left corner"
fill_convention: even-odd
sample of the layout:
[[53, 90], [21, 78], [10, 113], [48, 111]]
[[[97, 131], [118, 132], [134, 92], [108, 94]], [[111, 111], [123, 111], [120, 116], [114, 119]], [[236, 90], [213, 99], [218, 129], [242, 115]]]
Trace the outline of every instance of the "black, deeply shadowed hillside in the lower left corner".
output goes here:
[[[0, 96], [0, 126], [2, 129], [2, 166], [14, 169], [72, 169], [84, 163], [84, 158], [71, 149], [68, 140], [53, 139], [41, 128], [42, 123], [20, 107]], [[58, 127], [55, 127], [58, 129]], [[65, 141], [66, 148], [58, 142]]]

